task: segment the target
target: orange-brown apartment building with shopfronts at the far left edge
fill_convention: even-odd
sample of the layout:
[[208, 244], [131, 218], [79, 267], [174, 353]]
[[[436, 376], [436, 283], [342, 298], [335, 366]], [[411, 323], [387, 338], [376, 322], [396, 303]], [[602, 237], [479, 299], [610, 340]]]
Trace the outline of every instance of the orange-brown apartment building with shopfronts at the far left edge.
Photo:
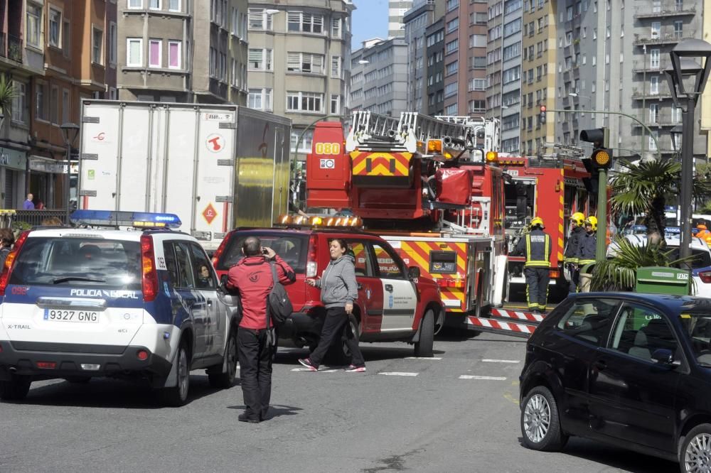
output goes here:
[[77, 166], [65, 162], [60, 125], [80, 123], [81, 98], [115, 91], [116, 15], [110, 0], [0, 0], [0, 73], [15, 93], [0, 119], [4, 208], [20, 207], [27, 192], [65, 207], [70, 183], [75, 198]]

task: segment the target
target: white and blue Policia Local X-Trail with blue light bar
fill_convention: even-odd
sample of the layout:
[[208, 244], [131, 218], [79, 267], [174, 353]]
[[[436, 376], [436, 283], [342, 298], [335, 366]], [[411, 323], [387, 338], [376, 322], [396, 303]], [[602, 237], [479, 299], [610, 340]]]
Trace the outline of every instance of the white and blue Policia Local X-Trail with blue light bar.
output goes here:
[[178, 217], [77, 210], [71, 219], [78, 228], [21, 234], [2, 268], [0, 398], [22, 399], [38, 379], [121, 376], [181, 406], [190, 371], [202, 368], [211, 385], [232, 386], [232, 300], [198, 241], [171, 230]]

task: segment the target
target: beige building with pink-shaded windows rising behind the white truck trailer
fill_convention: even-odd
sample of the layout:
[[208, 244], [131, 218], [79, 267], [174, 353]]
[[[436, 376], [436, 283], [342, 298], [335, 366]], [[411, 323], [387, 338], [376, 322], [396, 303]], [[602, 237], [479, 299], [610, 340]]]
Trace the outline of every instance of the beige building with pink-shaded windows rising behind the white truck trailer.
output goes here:
[[121, 0], [119, 98], [247, 104], [247, 0]]

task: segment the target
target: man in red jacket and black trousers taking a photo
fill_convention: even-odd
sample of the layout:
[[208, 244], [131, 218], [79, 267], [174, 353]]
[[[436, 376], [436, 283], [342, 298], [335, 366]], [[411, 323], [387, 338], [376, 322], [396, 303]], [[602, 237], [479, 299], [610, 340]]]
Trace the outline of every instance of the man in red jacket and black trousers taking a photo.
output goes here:
[[272, 398], [272, 347], [267, 343], [267, 298], [274, 286], [272, 261], [280, 283], [291, 284], [296, 276], [292, 267], [273, 249], [262, 247], [257, 237], [245, 239], [242, 254], [245, 257], [230, 268], [225, 284], [227, 290], [237, 290], [242, 298], [237, 354], [246, 408], [237, 420], [259, 423], [267, 418]]

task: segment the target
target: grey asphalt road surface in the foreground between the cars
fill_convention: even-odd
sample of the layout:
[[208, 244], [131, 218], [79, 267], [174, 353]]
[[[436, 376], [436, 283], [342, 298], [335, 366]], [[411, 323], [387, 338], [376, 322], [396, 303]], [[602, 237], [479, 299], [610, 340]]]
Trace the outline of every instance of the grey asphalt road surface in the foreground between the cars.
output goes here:
[[588, 440], [560, 453], [522, 447], [523, 339], [437, 339], [435, 350], [410, 359], [406, 344], [364, 344], [358, 374], [300, 371], [306, 352], [282, 349], [260, 424], [237, 422], [240, 386], [215, 391], [200, 371], [183, 408], [122, 381], [38, 382], [23, 403], [0, 404], [0, 471], [678, 471]]

